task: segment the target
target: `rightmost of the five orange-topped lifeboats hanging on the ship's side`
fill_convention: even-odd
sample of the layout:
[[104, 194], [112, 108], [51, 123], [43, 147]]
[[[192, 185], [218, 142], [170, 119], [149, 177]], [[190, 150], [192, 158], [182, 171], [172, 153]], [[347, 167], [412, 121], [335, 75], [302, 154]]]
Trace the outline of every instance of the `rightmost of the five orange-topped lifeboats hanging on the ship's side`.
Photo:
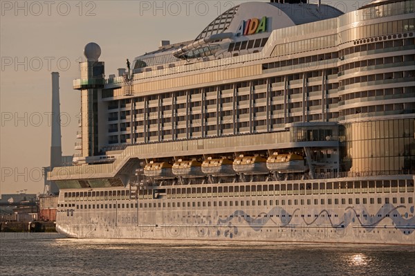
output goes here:
[[305, 172], [308, 168], [305, 165], [304, 157], [298, 154], [273, 154], [266, 160], [266, 167], [271, 172], [295, 173]]

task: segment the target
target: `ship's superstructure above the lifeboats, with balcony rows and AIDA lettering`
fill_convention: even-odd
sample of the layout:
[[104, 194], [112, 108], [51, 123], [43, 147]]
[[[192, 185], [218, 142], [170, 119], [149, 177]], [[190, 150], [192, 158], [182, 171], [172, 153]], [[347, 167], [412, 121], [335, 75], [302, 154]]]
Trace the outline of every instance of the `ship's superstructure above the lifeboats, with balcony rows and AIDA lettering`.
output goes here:
[[302, 2], [235, 6], [118, 77], [88, 44], [79, 152], [50, 180], [116, 187], [150, 162], [275, 153], [303, 155], [312, 178], [413, 174], [415, 1]]

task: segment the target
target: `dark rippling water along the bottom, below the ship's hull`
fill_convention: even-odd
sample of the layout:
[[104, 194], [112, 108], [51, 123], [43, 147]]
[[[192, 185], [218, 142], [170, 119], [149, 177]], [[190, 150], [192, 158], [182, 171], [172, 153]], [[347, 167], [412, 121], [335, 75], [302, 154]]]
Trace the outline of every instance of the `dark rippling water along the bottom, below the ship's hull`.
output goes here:
[[0, 275], [415, 275], [411, 246], [186, 243], [0, 233]]

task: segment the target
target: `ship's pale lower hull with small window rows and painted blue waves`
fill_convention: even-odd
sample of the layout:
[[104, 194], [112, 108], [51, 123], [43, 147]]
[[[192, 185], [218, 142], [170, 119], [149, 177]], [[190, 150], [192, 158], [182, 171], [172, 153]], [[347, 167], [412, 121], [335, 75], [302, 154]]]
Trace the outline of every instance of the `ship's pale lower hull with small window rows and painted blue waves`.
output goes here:
[[57, 230], [88, 239], [415, 244], [414, 192], [311, 193], [71, 203], [61, 193]]

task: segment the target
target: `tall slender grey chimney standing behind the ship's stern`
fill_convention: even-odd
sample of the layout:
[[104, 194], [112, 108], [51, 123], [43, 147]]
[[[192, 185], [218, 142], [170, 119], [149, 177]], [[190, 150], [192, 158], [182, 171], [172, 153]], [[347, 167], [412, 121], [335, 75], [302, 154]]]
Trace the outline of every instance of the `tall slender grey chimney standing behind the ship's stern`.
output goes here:
[[[62, 166], [62, 143], [59, 102], [59, 73], [52, 73], [52, 137], [50, 140], [50, 169]], [[59, 192], [55, 183], [50, 183], [50, 193]]]

